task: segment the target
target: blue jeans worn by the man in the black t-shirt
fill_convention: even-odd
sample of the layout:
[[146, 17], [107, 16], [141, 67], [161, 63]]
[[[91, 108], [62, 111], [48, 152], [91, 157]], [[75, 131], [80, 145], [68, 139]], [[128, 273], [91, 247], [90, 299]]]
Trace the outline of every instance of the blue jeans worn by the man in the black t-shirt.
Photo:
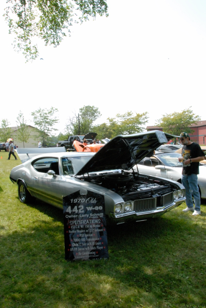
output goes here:
[[[182, 175], [182, 185], [185, 188], [186, 206], [194, 207], [193, 197], [195, 203], [195, 210], [200, 210], [200, 194], [197, 184], [197, 175], [184, 176]], [[193, 196], [193, 197], [192, 197]]]

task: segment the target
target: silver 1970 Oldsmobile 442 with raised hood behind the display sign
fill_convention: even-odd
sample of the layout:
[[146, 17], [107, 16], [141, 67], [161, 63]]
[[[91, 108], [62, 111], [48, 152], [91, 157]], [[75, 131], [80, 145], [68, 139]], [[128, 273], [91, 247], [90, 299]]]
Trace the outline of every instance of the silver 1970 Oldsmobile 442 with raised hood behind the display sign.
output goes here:
[[116, 224], [159, 217], [185, 201], [183, 185], [129, 170], [167, 138], [158, 130], [117, 136], [97, 153], [17, 149], [23, 164], [10, 179], [23, 203], [36, 197], [63, 208], [63, 196], [83, 189], [104, 196], [106, 217]]

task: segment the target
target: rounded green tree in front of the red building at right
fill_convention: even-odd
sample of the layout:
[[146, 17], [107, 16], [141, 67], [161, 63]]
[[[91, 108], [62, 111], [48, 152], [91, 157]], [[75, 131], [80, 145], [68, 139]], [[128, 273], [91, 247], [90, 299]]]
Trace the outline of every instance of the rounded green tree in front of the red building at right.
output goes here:
[[190, 109], [184, 109], [180, 112], [163, 114], [162, 118], [157, 120], [156, 125], [163, 128], [163, 131], [179, 136], [182, 131], [193, 132], [189, 126], [200, 121], [199, 115], [195, 115]]

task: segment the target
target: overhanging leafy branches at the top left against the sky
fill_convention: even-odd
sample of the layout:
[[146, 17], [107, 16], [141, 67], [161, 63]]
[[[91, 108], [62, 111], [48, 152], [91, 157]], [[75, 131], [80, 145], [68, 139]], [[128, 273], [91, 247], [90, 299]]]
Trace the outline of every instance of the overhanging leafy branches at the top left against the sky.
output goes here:
[[9, 33], [15, 35], [14, 49], [23, 51], [27, 61], [39, 55], [33, 38], [57, 47], [72, 23], [82, 23], [97, 14], [108, 16], [106, 0], [7, 0], [7, 4], [4, 16]]

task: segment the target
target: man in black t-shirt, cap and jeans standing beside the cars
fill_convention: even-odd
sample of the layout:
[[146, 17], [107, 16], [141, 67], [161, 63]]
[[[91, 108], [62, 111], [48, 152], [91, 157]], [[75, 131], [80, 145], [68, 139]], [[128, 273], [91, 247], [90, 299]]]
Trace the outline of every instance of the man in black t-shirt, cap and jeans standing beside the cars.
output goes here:
[[182, 184], [185, 188], [187, 206], [183, 209], [183, 212], [194, 210], [193, 196], [195, 203], [193, 216], [196, 216], [201, 214], [197, 175], [199, 174], [199, 162], [204, 159], [204, 152], [201, 150], [199, 144], [190, 141], [190, 136], [187, 132], [181, 132], [180, 142], [183, 144], [183, 147], [182, 158], [179, 158], [179, 161], [183, 162]]

